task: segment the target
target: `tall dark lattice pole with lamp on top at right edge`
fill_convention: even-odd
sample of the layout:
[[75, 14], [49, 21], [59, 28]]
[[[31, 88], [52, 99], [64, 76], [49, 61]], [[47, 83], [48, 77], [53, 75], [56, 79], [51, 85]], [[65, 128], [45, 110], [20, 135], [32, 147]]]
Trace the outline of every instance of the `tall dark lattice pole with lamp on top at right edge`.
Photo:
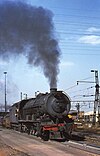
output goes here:
[[94, 114], [93, 114], [93, 125], [96, 124], [96, 110], [98, 107], [98, 123], [100, 124], [100, 99], [99, 99], [99, 78], [98, 71], [91, 70], [91, 72], [95, 73], [95, 101], [94, 101]]

